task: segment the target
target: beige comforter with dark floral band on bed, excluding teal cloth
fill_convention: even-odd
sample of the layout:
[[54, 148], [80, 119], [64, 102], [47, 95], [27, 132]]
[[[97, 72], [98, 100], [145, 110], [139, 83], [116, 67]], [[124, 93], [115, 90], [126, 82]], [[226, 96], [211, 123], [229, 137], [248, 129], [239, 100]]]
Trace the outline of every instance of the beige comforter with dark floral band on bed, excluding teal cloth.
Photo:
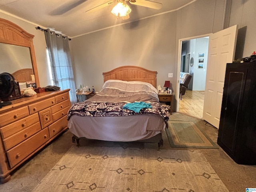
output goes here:
[[[114, 84], [114, 85], [113, 85]], [[139, 113], [124, 109], [123, 106], [132, 102], [150, 103], [152, 108], [142, 108]], [[78, 116], [130, 116], [150, 114], [161, 116], [165, 122], [169, 119], [167, 107], [159, 103], [157, 90], [146, 83], [132, 84], [123, 81], [105, 82], [103, 89], [92, 98], [75, 103], [68, 111], [68, 120], [72, 115]]]

